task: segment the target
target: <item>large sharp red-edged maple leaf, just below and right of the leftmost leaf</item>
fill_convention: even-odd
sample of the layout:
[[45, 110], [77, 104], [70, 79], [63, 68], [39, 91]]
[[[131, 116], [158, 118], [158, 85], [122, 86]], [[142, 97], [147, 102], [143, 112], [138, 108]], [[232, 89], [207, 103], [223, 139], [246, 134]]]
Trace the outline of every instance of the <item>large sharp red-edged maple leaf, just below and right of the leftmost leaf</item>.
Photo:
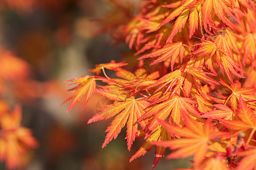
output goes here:
[[[148, 101], [142, 99], [134, 99], [130, 97], [125, 101], [119, 101], [113, 105], [108, 105], [105, 108], [102, 108], [95, 116], [90, 118], [88, 124], [91, 122], [96, 122], [100, 120], [106, 120], [108, 118], [114, 117], [111, 125], [106, 129], [106, 138], [102, 145], [102, 148], [105, 147], [112, 139], [117, 138], [118, 134], [121, 132], [121, 129], [127, 124], [127, 147], [130, 151], [131, 145], [135, 140], [135, 136], [138, 133], [138, 118], [145, 113], [144, 109], [148, 107]], [[139, 124], [142, 128], [146, 126], [144, 121], [140, 121]]]

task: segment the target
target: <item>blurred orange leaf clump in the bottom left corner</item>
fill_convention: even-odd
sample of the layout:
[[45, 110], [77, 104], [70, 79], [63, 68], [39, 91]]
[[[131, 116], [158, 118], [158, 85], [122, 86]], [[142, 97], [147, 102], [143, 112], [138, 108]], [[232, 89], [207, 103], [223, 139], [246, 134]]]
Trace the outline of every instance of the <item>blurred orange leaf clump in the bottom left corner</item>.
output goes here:
[[16, 106], [11, 113], [7, 104], [1, 107], [7, 111], [0, 116], [0, 160], [5, 160], [9, 169], [21, 168], [22, 157], [29, 148], [38, 147], [38, 142], [32, 137], [31, 131], [20, 124], [20, 106]]

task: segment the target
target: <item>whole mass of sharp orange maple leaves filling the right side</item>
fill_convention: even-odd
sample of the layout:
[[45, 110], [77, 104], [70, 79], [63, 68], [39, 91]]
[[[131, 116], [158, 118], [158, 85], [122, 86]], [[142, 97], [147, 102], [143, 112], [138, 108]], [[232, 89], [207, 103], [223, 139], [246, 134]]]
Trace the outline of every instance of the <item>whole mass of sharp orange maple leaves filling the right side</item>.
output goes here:
[[136, 138], [145, 140], [130, 162], [155, 146], [152, 168], [170, 148], [167, 159], [193, 156], [189, 169], [254, 169], [255, 2], [151, 0], [130, 22], [113, 25], [138, 66], [111, 61], [69, 80], [77, 86], [68, 111], [95, 93], [113, 101], [88, 121], [113, 118], [102, 147], [126, 126], [129, 151]]

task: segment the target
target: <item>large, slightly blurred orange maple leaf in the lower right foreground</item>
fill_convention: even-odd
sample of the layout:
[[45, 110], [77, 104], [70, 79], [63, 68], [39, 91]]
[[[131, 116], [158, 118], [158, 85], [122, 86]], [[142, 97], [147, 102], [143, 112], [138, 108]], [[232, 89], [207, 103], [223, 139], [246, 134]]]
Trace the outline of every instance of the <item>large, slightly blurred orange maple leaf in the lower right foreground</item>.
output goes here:
[[168, 155], [168, 159], [187, 158], [194, 155], [195, 167], [197, 167], [203, 160], [205, 153], [208, 150], [209, 143], [213, 143], [213, 139], [226, 135], [225, 132], [217, 132], [211, 124], [211, 120], [205, 121], [202, 126], [198, 121], [193, 120], [188, 114], [183, 113], [183, 122], [185, 128], [168, 124], [167, 122], [156, 118], [159, 123], [166, 128], [173, 135], [183, 137], [181, 139], [174, 139], [166, 142], [152, 142], [157, 146], [170, 147], [175, 152]]

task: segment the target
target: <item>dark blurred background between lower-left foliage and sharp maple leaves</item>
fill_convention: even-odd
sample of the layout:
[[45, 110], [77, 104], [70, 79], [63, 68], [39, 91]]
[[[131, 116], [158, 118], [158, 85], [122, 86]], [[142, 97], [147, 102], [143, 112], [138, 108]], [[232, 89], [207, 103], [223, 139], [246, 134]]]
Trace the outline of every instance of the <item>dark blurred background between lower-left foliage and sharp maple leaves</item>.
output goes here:
[[[0, 92], [11, 106], [22, 105], [22, 125], [39, 147], [26, 156], [25, 169], [151, 169], [154, 148], [129, 163], [141, 147], [126, 147], [125, 129], [101, 148], [111, 120], [87, 124], [105, 101], [93, 99], [81, 111], [61, 106], [71, 92], [67, 82], [92, 75], [97, 63], [136, 63], [122, 37], [122, 27], [138, 13], [139, 0], [1, 0]], [[113, 40], [115, 38], [115, 41]], [[0, 163], [0, 169], [5, 164]], [[158, 169], [184, 167], [180, 160], [160, 160]]]

